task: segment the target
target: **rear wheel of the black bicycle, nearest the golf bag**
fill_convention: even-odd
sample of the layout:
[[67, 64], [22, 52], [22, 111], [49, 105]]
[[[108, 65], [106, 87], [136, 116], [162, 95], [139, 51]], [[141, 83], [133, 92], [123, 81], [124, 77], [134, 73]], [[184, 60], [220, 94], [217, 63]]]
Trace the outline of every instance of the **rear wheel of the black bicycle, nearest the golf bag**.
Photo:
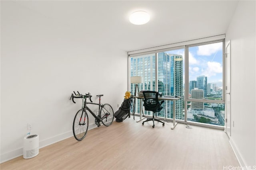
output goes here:
[[109, 126], [114, 120], [114, 111], [110, 104], [104, 104], [100, 109], [100, 117], [102, 119], [102, 124]]

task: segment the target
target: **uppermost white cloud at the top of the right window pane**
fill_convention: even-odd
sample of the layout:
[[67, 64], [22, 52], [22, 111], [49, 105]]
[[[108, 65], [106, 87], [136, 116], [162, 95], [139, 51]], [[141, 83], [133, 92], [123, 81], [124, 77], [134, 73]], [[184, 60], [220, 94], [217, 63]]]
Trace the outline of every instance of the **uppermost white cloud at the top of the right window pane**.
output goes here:
[[214, 44], [206, 44], [198, 46], [198, 50], [196, 51], [197, 55], [212, 55], [217, 51], [222, 50], [222, 43], [214, 43]]

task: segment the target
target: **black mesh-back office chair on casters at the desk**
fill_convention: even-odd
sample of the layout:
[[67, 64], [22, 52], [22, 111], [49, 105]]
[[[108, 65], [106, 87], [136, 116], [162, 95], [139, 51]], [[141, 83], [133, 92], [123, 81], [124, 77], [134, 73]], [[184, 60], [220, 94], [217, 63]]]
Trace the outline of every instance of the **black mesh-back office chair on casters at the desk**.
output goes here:
[[[144, 95], [143, 106], [145, 107], [145, 110], [153, 111], [153, 117], [147, 118], [146, 121], [153, 121], [153, 126], [152, 126], [153, 128], [155, 127], [154, 121], [161, 122], [163, 123], [163, 126], [164, 126], [164, 122], [154, 118], [154, 114], [162, 110], [163, 107], [161, 105], [164, 103], [164, 100], [162, 100], [161, 103], [159, 103], [158, 92], [155, 92], [155, 91], [143, 91], [143, 95]], [[146, 121], [143, 121], [142, 125], [144, 125], [144, 122]]]

